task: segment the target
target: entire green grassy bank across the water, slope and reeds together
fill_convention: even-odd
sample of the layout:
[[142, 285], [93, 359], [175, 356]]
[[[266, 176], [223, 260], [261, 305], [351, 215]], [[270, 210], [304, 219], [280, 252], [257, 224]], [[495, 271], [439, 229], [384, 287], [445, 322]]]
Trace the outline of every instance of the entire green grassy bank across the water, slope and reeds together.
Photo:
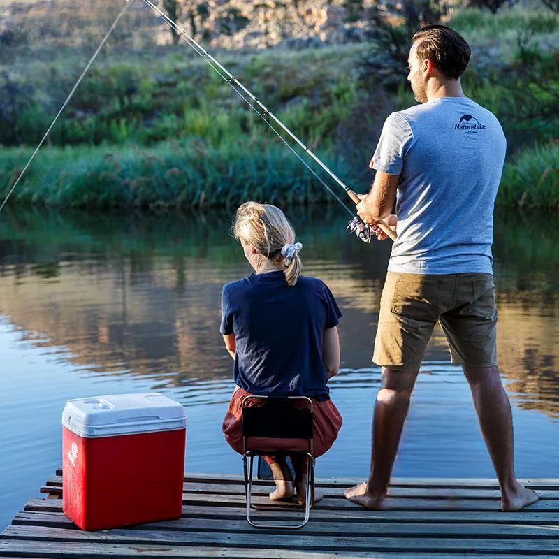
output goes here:
[[[498, 115], [507, 135], [500, 203], [556, 208], [559, 16], [466, 9], [449, 24], [474, 52], [465, 92]], [[392, 89], [375, 75], [363, 77], [369, 49], [356, 44], [217, 55], [342, 180], [365, 191], [384, 118], [414, 103], [404, 76]], [[87, 60], [84, 52], [64, 49], [13, 54], [0, 60], [3, 191], [32, 150], [16, 146], [38, 142]], [[202, 59], [169, 47], [102, 56], [13, 201], [156, 208], [246, 198], [311, 203], [331, 195]]]

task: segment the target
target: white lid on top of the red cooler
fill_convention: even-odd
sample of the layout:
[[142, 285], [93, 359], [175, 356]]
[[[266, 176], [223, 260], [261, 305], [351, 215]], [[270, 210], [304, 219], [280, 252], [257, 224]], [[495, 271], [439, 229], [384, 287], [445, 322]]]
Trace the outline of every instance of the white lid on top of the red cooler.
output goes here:
[[157, 392], [68, 400], [62, 425], [80, 437], [112, 437], [182, 429], [184, 407]]

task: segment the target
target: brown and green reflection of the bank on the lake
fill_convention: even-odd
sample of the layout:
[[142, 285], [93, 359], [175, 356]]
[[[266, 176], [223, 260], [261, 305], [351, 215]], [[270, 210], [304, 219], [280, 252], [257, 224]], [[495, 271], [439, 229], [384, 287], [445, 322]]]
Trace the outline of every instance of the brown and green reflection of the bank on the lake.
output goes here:
[[[368, 367], [390, 245], [345, 235], [337, 208], [289, 214], [305, 273], [324, 279], [344, 311], [344, 368]], [[0, 312], [22, 339], [64, 347], [60, 358], [79, 368], [149, 377], [157, 389], [181, 388], [199, 401], [208, 393], [203, 382], [230, 377], [220, 289], [248, 273], [230, 219], [8, 211], [0, 223]], [[557, 416], [559, 229], [556, 217], [541, 223], [517, 214], [496, 220], [498, 344], [518, 405]], [[426, 359], [448, 361], [439, 328]], [[210, 386], [212, 398], [226, 398], [229, 386]]]

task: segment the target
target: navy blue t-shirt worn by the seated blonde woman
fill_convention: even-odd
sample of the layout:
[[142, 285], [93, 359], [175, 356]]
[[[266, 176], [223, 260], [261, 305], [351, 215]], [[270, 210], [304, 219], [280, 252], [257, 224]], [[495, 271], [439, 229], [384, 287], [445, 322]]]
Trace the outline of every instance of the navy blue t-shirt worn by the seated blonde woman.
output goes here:
[[322, 342], [341, 317], [330, 289], [315, 277], [300, 276], [291, 287], [278, 270], [226, 284], [219, 331], [235, 333], [235, 383], [259, 395], [328, 400]]

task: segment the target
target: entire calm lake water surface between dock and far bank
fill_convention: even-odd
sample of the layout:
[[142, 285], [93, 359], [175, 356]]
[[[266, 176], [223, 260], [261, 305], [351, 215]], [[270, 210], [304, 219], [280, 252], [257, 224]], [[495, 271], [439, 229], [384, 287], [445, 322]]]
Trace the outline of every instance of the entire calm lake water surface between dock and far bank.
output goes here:
[[[389, 242], [344, 233], [339, 208], [288, 212], [307, 275], [344, 317], [331, 381], [344, 426], [317, 475], [363, 479], [379, 368], [372, 341]], [[233, 390], [219, 334], [222, 285], [249, 273], [228, 235], [231, 212], [205, 215], [0, 215], [0, 528], [61, 464], [69, 398], [159, 391], [187, 410], [190, 472], [241, 473], [224, 442]], [[475, 224], [472, 224], [475, 226]], [[502, 377], [519, 477], [559, 477], [559, 220], [498, 215], [495, 283]], [[494, 477], [470, 392], [440, 328], [429, 344], [395, 464], [398, 477]]]

